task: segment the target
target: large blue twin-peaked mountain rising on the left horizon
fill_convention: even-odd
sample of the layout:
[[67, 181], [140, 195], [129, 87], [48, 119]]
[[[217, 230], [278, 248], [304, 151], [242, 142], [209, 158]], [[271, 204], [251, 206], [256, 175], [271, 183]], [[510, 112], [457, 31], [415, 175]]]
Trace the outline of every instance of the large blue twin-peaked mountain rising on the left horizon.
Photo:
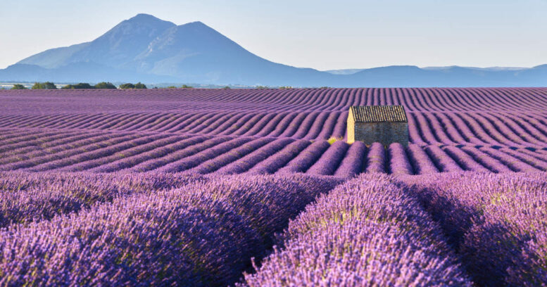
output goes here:
[[[82, 71], [75, 71], [75, 65], [81, 65]], [[28, 77], [22, 70], [27, 71]], [[67, 77], [65, 70], [74, 73]], [[20, 60], [0, 70], [0, 79], [36, 80], [46, 75], [54, 81], [92, 82], [102, 72], [106, 74], [101, 80], [204, 84], [311, 86], [329, 77], [317, 70], [260, 58], [201, 22], [177, 26], [139, 14], [92, 42], [51, 49]], [[114, 78], [106, 77], [111, 74]]]

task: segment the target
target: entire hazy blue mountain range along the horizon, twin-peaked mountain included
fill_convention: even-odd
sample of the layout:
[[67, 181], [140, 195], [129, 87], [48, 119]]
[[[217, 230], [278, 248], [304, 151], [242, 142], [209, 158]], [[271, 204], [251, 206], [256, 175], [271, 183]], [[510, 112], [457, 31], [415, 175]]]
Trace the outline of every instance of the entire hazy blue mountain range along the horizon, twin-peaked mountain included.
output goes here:
[[293, 87], [545, 87], [547, 65], [319, 71], [260, 58], [201, 22], [177, 26], [139, 14], [92, 42], [49, 49], [20, 60], [0, 70], [0, 80]]

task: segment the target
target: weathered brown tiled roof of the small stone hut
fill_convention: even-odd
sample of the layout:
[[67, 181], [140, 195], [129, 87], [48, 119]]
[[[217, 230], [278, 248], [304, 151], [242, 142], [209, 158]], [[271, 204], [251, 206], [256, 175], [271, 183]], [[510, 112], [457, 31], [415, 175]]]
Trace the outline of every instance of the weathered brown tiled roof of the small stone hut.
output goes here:
[[351, 106], [355, 122], [408, 122], [403, 106]]

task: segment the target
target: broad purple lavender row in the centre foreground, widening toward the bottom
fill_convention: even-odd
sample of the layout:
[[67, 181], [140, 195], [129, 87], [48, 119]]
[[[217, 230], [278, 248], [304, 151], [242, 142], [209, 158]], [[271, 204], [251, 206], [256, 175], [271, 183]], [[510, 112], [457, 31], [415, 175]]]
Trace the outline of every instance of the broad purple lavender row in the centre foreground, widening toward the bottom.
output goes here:
[[320, 196], [248, 286], [472, 286], [439, 225], [383, 174]]

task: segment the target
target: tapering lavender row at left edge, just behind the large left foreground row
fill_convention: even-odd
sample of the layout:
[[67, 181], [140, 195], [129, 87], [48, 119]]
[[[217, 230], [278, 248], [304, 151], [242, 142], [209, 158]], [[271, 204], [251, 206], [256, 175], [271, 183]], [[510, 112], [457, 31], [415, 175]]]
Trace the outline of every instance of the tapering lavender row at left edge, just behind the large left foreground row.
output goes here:
[[77, 212], [118, 196], [184, 186], [199, 176], [0, 172], [0, 228]]

